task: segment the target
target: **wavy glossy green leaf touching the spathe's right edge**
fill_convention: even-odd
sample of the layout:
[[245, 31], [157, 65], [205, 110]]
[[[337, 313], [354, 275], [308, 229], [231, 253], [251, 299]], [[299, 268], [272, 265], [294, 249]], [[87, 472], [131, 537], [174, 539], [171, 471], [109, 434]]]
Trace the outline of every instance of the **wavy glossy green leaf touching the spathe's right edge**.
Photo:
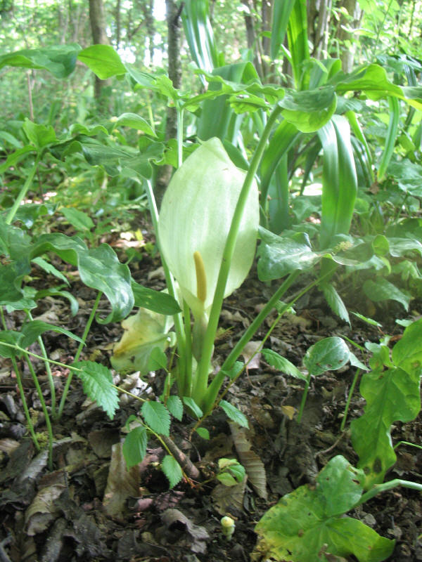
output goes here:
[[261, 281], [280, 279], [292, 271], [309, 269], [320, 259], [303, 233], [294, 237], [277, 236], [260, 227], [260, 237], [257, 256]]

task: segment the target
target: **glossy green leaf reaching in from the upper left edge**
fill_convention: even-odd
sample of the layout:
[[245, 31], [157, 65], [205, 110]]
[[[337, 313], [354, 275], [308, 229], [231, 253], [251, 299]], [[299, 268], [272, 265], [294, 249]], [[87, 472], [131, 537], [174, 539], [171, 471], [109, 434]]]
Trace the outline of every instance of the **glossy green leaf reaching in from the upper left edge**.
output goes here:
[[79, 51], [81, 47], [77, 44], [23, 49], [0, 56], [0, 68], [4, 66], [42, 68], [51, 72], [56, 78], [65, 78], [75, 69]]

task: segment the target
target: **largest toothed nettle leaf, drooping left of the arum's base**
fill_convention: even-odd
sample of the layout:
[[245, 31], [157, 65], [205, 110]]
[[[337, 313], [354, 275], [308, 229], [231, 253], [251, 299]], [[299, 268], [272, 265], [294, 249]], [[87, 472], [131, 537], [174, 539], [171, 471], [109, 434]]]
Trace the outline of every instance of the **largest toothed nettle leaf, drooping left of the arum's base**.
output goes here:
[[113, 377], [110, 370], [100, 363], [93, 361], [79, 361], [73, 367], [82, 369], [76, 371], [82, 380], [84, 393], [91, 400], [95, 400], [110, 419], [113, 419], [115, 411], [119, 407], [119, 396], [117, 388], [113, 386]]

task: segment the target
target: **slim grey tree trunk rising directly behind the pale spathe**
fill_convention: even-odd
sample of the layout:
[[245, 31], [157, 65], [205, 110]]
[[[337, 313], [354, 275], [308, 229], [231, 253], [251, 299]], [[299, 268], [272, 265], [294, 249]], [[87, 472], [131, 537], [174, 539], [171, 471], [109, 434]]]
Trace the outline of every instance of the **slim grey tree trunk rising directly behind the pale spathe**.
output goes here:
[[[167, 10], [167, 44], [168, 44], [168, 74], [174, 88], [181, 86], [181, 60], [180, 60], [180, 30], [181, 30], [181, 6], [177, 6], [174, 0], [165, 0]], [[177, 112], [174, 107], [167, 107], [167, 122], [165, 128], [166, 140], [177, 137]], [[165, 164], [158, 169], [155, 181], [155, 199], [160, 204], [165, 188], [172, 177], [172, 166]]]

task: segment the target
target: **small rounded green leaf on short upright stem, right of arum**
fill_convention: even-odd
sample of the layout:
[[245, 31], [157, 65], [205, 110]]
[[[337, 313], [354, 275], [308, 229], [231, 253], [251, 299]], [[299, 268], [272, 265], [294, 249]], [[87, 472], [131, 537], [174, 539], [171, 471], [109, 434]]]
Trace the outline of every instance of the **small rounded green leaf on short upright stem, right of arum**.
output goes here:
[[345, 341], [337, 336], [321, 339], [311, 346], [303, 359], [303, 365], [316, 377], [326, 371], [343, 367], [350, 357]]

